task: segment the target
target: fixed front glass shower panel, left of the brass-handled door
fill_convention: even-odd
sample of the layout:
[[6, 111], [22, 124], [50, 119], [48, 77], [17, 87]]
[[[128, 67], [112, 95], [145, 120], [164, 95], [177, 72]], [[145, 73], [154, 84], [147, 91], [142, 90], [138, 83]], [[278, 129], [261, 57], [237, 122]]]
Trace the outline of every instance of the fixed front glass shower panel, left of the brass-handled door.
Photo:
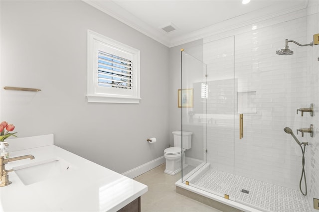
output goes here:
[[[193, 89], [193, 107], [182, 107], [182, 128], [192, 131], [186, 159], [202, 160], [183, 182], [235, 200], [234, 37], [204, 43], [182, 53], [182, 88]], [[192, 52], [192, 54], [188, 53]], [[236, 126], [236, 127], [235, 127]], [[184, 169], [183, 169], [184, 170]], [[193, 171], [194, 171], [193, 170]]]

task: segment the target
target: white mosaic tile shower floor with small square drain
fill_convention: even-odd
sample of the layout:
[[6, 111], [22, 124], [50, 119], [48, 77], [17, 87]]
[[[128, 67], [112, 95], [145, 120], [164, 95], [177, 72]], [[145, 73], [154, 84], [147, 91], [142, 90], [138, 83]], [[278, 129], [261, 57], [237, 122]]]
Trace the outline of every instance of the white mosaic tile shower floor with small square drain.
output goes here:
[[[244, 202], [267, 212], [311, 212], [307, 197], [300, 191], [257, 181], [226, 172], [209, 169], [198, 179], [190, 182], [205, 191], [213, 191], [222, 196], [236, 197]], [[247, 190], [249, 193], [244, 193]], [[235, 191], [236, 190], [236, 191]], [[236, 194], [236, 196], [234, 196]]]

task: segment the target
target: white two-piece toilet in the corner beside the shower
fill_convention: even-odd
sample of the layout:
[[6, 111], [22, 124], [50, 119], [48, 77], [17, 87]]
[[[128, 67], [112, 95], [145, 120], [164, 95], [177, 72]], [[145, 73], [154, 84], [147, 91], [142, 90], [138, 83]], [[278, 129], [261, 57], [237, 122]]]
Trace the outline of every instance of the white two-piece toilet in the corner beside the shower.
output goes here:
[[[191, 134], [192, 132], [173, 131], [174, 147], [169, 147], [164, 150], [164, 158], [166, 159], [165, 173], [175, 175], [181, 171], [181, 154], [185, 158], [184, 151], [191, 148]], [[183, 150], [181, 149], [181, 142], [183, 142]], [[185, 160], [184, 160], [185, 161]], [[183, 161], [183, 164], [184, 164]]]

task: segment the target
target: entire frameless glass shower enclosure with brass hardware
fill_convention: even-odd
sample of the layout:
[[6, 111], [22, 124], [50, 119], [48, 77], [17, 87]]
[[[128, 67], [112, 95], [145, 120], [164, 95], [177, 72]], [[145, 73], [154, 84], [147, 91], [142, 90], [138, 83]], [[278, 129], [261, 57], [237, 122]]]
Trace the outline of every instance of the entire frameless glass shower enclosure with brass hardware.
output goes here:
[[[297, 135], [297, 129], [310, 128], [313, 116], [296, 112], [314, 103], [306, 95], [316, 84], [309, 83], [307, 65], [312, 47], [294, 46], [290, 56], [275, 53], [286, 38], [308, 42], [305, 34], [283, 27], [305, 32], [305, 19], [181, 49], [181, 127], [192, 132], [182, 183], [260, 211], [313, 210], [319, 190], [310, 180], [314, 155], [307, 145], [303, 167], [300, 145], [284, 131], [290, 127], [300, 142], [315, 142], [310, 133]], [[301, 179], [303, 168], [308, 182]]]

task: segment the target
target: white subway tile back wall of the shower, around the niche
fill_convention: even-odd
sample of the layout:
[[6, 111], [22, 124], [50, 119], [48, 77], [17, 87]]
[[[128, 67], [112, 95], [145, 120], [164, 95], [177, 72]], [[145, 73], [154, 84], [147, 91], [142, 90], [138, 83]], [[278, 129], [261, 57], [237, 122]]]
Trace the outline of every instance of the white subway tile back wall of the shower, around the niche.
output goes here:
[[[257, 29], [204, 44], [207, 112], [212, 117], [216, 113], [228, 116], [213, 117], [214, 123], [207, 127], [208, 149], [214, 147], [208, 162], [213, 168], [229, 173], [236, 170], [240, 176], [298, 189], [300, 149], [283, 129], [305, 128], [296, 109], [306, 102], [307, 49], [293, 46], [296, 53], [290, 57], [275, 51], [284, 47], [286, 38], [305, 43], [306, 23], [307, 17], [263, 28], [256, 24]], [[237, 92], [256, 92], [257, 111], [244, 114], [241, 140], [238, 115], [233, 115]]]

